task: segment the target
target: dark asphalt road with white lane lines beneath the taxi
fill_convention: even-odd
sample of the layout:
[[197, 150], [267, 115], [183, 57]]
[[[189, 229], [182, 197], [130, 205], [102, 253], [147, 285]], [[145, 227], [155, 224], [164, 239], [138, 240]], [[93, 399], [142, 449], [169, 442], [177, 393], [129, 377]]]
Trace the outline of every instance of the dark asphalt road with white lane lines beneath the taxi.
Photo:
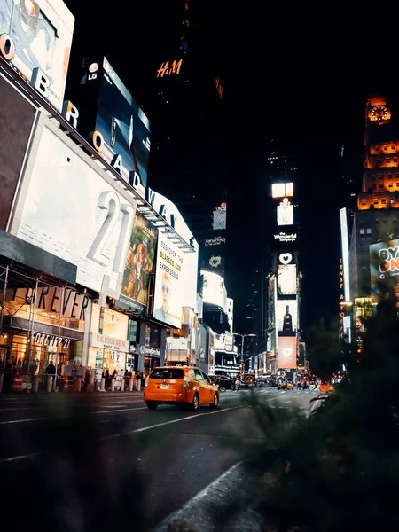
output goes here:
[[[22, 465], [36, 468], [43, 497], [74, 493], [77, 515], [92, 500], [111, 512], [128, 505], [149, 530], [242, 458], [232, 434], [256, 437], [247, 431], [250, 393], [224, 392], [219, 409], [196, 412], [148, 411], [139, 392], [0, 395], [0, 465], [11, 482]], [[304, 411], [317, 395], [254, 393], [273, 408]]]

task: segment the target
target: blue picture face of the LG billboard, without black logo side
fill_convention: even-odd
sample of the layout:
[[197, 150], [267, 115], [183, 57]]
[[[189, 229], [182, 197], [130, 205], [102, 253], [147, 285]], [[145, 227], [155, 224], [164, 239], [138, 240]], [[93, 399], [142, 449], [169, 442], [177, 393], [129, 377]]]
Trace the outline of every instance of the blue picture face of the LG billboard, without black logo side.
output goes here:
[[116, 155], [120, 155], [121, 175], [126, 181], [137, 175], [140, 179], [137, 192], [145, 197], [151, 147], [150, 122], [105, 58], [96, 130], [105, 142], [102, 157], [111, 163]]

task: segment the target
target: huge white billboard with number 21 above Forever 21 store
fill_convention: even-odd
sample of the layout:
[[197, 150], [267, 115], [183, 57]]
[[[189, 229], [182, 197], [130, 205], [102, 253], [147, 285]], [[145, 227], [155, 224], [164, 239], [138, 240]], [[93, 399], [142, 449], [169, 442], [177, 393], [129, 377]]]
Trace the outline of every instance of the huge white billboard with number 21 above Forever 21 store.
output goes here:
[[77, 283], [117, 299], [135, 200], [44, 116], [12, 220], [22, 240], [77, 266]]

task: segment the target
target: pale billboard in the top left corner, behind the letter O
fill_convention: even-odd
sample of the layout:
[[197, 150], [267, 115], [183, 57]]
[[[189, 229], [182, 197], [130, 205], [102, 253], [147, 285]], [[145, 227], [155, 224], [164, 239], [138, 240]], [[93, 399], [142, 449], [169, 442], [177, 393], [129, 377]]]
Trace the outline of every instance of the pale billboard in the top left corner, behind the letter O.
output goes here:
[[[0, 54], [61, 111], [74, 33], [74, 16], [62, 0], [2, 0]], [[3, 34], [3, 35], [2, 35]], [[35, 68], [39, 73], [35, 79]]]

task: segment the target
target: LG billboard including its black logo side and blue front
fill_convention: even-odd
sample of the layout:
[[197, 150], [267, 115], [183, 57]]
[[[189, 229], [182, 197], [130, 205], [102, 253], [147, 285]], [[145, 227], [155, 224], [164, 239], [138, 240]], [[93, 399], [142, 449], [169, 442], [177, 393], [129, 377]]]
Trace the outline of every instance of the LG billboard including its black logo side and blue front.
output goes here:
[[79, 110], [77, 129], [144, 198], [150, 157], [150, 122], [108, 60], [87, 58], [82, 80], [67, 97]]

